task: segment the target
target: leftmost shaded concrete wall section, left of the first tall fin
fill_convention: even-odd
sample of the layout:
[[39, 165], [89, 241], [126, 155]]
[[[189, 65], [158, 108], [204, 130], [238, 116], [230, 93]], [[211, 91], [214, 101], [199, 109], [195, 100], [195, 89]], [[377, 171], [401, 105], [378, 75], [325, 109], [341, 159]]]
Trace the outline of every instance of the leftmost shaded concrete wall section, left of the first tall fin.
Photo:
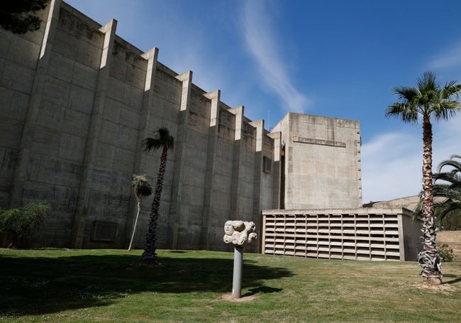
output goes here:
[[[38, 13], [47, 20], [48, 9]], [[21, 37], [0, 28], [0, 207], [9, 206], [45, 28]]]

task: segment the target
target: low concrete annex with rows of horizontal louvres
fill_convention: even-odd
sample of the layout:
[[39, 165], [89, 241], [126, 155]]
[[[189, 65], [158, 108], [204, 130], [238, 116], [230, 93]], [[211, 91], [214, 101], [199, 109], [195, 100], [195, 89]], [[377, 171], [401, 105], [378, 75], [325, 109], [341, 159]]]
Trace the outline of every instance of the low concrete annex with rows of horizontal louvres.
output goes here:
[[406, 209], [262, 212], [262, 253], [370, 261], [416, 258], [418, 224]]

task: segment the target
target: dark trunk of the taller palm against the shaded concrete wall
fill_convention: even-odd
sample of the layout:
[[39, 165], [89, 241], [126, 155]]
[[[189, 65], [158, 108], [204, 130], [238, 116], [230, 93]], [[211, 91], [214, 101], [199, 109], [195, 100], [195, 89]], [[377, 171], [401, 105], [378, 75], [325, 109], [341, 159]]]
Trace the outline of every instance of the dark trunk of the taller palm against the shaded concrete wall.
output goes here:
[[143, 261], [146, 263], [158, 263], [155, 241], [157, 241], [157, 220], [159, 217], [160, 197], [162, 195], [163, 177], [167, 165], [167, 148], [163, 148], [160, 157], [160, 167], [157, 175], [157, 184], [155, 185], [154, 199], [150, 209], [150, 218], [148, 224], [148, 233], [145, 235], [145, 248], [143, 252]]

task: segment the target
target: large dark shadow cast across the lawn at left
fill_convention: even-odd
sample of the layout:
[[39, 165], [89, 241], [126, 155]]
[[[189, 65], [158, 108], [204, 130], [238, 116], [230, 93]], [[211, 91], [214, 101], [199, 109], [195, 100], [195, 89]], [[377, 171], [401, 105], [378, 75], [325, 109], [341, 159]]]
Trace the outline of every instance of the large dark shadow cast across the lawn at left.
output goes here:
[[[150, 268], [140, 265], [140, 256], [133, 253], [0, 256], [0, 318], [106, 306], [139, 292], [230, 292], [233, 255], [222, 257], [194, 258], [192, 253], [172, 251], [160, 258], [163, 266]], [[291, 275], [286, 268], [244, 260], [242, 287], [261, 286], [266, 280]], [[260, 287], [252, 292], [268, 291]]]

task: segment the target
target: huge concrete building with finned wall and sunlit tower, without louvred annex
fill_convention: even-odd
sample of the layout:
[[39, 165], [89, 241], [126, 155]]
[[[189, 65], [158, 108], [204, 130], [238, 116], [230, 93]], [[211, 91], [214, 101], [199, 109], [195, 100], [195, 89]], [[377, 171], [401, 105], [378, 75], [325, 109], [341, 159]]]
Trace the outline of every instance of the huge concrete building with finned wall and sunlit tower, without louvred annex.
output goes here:
[[[287, 114], [273, 131], [245, 117], [60, 0], [39, 31], [0, 29], [0, 207], [49, 202], [39, 246], [125, 248], [133, 174], [155, 182], [160, 155], [140, 142], [167, 126], [159, 248], [228, 250], [223, 224], [263, 209], [362, 204], [358, 121]], [[150, 198], [135, 246], [142, 247]], [[257, 246], [253, 246], [253, 251]]]

